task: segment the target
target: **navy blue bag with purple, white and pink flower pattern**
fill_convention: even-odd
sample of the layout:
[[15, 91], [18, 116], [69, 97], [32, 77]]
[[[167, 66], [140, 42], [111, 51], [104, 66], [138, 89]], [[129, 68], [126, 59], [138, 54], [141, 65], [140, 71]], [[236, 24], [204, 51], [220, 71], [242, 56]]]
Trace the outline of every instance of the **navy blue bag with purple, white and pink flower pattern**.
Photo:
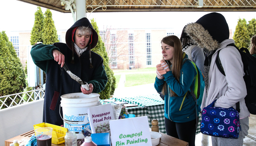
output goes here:
[[239, 130], [241, 130], [237, 110], [232, 107], [213, 107], [215, 101], [202, 110], [201, 133], [209, 136], [237, 139]]

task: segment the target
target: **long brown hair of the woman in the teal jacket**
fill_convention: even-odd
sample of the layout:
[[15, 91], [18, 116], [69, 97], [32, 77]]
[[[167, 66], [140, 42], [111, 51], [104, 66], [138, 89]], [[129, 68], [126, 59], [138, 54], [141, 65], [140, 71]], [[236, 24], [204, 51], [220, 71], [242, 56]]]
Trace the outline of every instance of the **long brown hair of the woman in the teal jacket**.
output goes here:
[[[165, 43], [169, 46], [174, 47], [174, 52], [173, 52], [173, 63], [171, 64], [170, 61], [167, 61], [167, 64], [170, 68], [170, 70], [172, 71], [175, 79], [179, 82], [180, 79], [180, 71], [181, 71], [181, 67], [182, 67], [182, 45], [181, 45], [181, 41], [178, 37], [172, 35], [172, 36], [167, 36], [164, 37], [161, 40], [161, 43]], [[162, 94], [165, 95], [165, 93], [167, 93], [166, 91], [167, 89], [167, 83], [164, 82], [164, 86], [162, 89]], [[170, 89], [170, 96], [178, 96], [173, 90]]]

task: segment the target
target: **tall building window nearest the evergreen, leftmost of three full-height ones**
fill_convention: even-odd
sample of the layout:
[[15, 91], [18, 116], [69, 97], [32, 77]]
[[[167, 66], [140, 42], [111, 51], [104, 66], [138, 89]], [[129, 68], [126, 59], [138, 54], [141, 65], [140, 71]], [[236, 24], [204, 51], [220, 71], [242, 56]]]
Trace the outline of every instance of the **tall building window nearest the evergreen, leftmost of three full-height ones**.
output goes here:
[[116, 34], [110, 34], [111, 66], [117, 68]]

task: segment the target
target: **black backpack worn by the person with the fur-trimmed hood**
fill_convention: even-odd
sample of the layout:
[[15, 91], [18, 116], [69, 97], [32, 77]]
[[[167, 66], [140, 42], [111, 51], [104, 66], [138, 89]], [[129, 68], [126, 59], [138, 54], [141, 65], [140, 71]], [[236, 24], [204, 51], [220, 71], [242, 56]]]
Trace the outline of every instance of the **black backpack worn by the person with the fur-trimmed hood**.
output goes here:
[[[229, 44], [227, 46], [234, 46], [237, 48], [235, 44]], [[242, 58], [242, 62], [244, 64], [244, 73], [245, 73], [244, 82], [247, 90], [247, 95], [244, 98], [245, 104], [250, 114], [256, 115], [256, 57], [253, 57], [247, 48], [242, 47], [241, 49], [237, 48], [237, 50], [239, 51]], [[219, 52], [220, 50], [218, 51], [215, 62], [220, 72], [224, 76], [226, 76], [223, 70], [223, 67], [221, 65]], [[240, 112], [239, 102], [237, 102], [237, 109], [238, 109], [238, 112]]]

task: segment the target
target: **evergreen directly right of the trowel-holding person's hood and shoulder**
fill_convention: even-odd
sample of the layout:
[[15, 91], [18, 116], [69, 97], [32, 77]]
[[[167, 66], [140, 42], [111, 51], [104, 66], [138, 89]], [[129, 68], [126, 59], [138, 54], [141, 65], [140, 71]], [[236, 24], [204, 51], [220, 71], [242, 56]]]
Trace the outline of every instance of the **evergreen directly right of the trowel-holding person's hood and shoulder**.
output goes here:
[[[97, 23], [94, 21], [94, 19], [91, 19], [91, 24], [95, 31], [99, 34], [99, 28], [97, 26]], [[106, 52], [105, 45], [102, 41], [102, 38], [99, 36], [98, 37], [98, 44], [96, 45], [95, 48], [92, 49], [93, 52], [96, 52], [99, 54], [103, 60], [104, 60], [104, 66], [105, 66], [105, 71], [108, 77], [108, 82], [106, 84], [106, 87], [103, 91], [101, 91], [100, 94], [100, 99], [109, 99], [115, 91], [115, 85], [116, 85], [116, 78], [114, 77], [114, 72], [110, 69], [108, 66], [108, 55]]]

